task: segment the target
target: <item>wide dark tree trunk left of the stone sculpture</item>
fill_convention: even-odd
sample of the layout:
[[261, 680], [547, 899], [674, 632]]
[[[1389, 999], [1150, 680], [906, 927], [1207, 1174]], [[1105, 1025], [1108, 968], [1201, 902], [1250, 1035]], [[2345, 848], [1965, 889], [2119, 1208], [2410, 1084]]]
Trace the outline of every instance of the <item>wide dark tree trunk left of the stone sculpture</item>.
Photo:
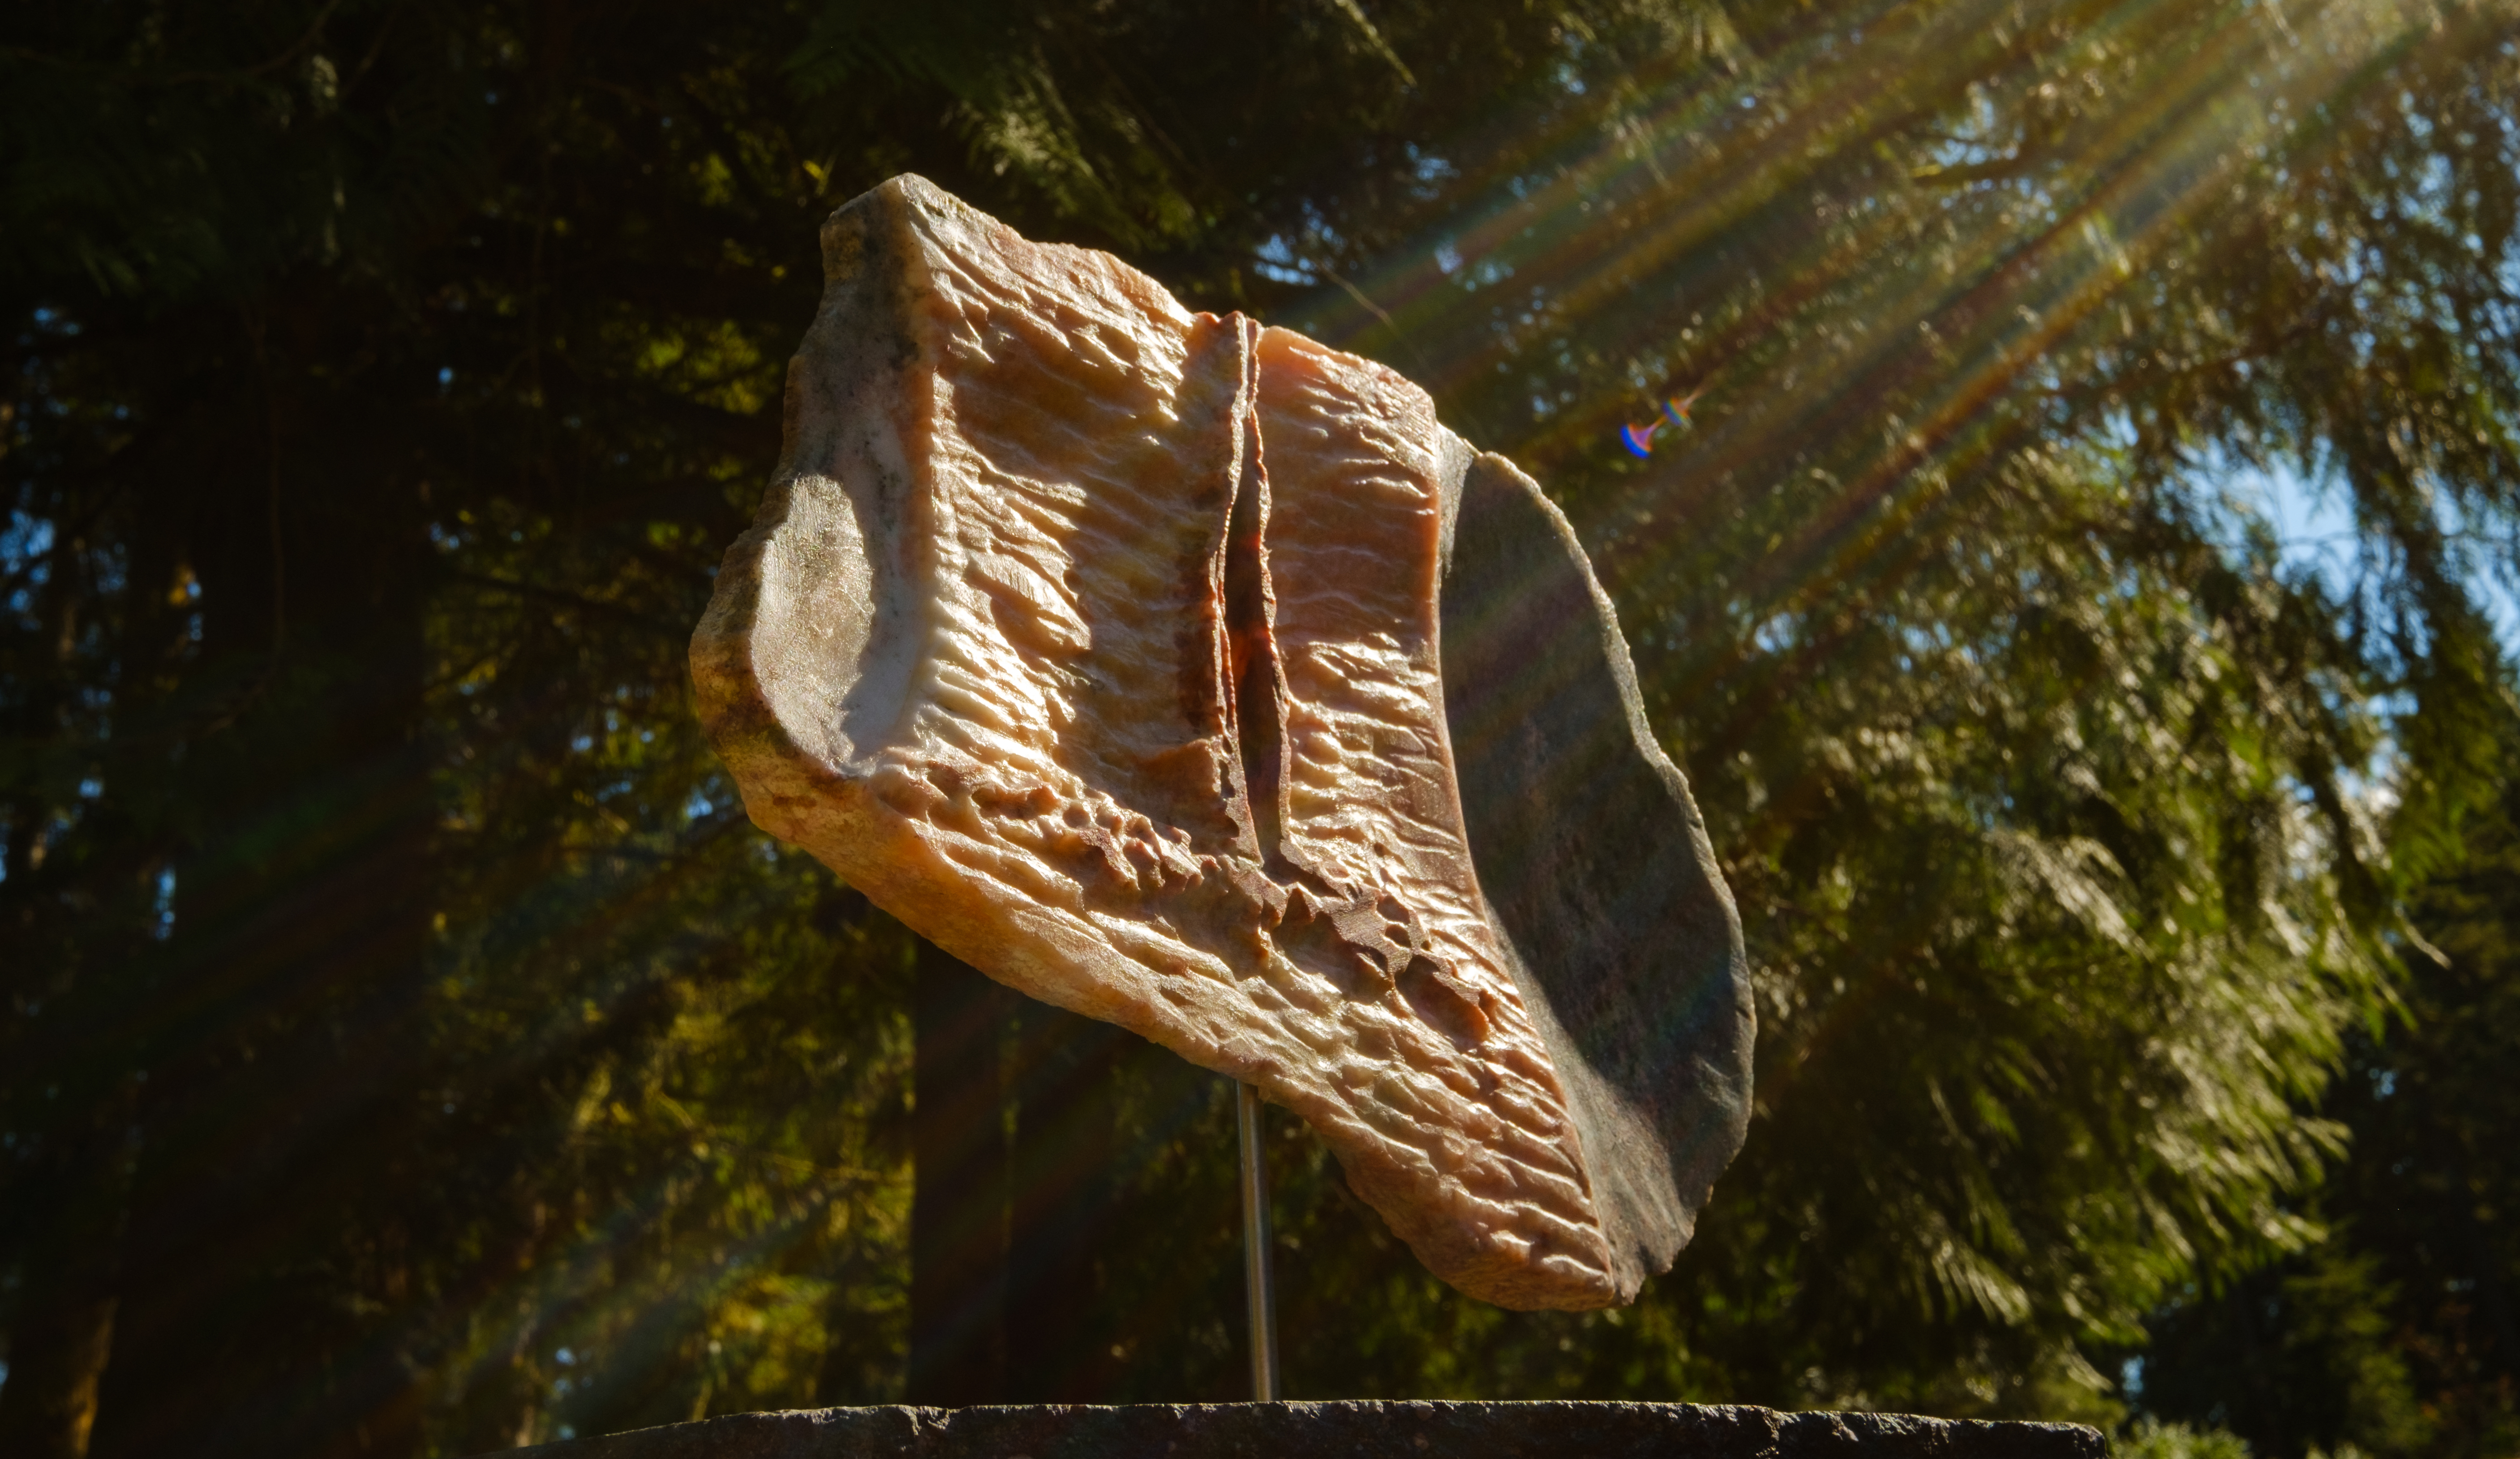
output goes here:
[[433, 557], [393, 431], [295, 363], [325, 302], [207, 348], [156, 441], [194, 461], [146, 524], [199, 575], [204, 693], [174, 922], [118, 1038], [146, 1084], [101, 1459], [418, 1444], [391, 1320], [333, 1273], [391, 1215], [426, 1048]]

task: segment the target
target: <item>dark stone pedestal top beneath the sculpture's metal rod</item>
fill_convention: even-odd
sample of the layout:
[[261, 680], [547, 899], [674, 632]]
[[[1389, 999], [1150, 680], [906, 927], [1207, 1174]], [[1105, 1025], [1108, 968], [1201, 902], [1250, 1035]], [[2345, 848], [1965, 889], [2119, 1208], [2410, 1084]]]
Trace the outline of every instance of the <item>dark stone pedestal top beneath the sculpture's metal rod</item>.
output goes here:
[[2079, 1424], [1693, 1404], [1139, 1404], [733, 1414], [539, 1459], [2107, 1459]]

